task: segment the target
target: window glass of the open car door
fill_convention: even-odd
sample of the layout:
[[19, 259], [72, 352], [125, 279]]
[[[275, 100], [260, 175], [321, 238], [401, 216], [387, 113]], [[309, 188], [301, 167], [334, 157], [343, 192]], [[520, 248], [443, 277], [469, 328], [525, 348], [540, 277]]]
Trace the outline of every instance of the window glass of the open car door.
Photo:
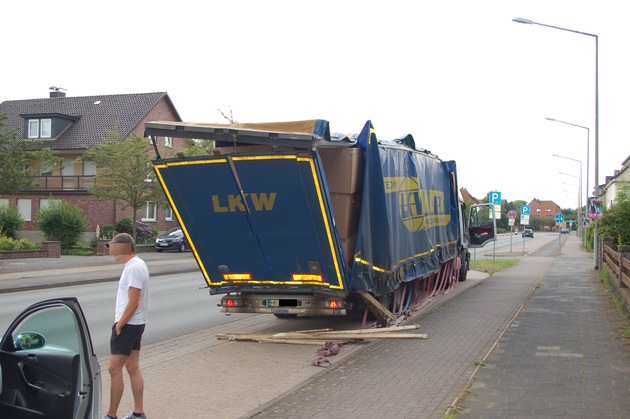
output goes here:
[[13, 337], [25, 332], [42, 335], [46, 347], [68, 349], [80, 353], [81, 344], [72, 311], [66, 306], [51, 307], [35, 312], [24, 319], [13, 331]]

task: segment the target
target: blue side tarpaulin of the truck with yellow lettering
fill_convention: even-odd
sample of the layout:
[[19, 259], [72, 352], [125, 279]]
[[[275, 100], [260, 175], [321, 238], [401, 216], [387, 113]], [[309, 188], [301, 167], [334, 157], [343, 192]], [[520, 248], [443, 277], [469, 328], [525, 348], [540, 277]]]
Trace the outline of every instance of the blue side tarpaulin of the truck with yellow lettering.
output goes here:
[[357, 143], [366, 163], [350, 286], [380, 295], [455, 257], [456, 168], [427, 153], [380, 146], [370, 121]]

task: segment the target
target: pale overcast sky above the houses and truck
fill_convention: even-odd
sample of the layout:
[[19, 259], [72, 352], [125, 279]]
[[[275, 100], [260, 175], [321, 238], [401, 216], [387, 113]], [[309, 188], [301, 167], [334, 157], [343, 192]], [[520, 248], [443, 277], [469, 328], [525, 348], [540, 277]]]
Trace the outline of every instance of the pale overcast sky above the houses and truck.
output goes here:
[[[184, 121], [327, 119], [413, 134], [483, 198], [578, 203], [630, 155], [630, 25], [619, 0], [5, 2], [0, 101], [168, 92]], [[589, 127], [550, 122], [546, 117]], [[568, 157], [553, 157], [553, 154]], [[560, 174], [563, 172], [566, 174]]]

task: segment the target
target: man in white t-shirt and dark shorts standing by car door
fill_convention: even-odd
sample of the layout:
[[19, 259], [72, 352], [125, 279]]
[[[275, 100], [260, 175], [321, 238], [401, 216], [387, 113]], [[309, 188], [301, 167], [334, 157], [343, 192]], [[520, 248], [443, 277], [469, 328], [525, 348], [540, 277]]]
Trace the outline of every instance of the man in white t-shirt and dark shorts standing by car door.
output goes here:
[[109, 375], [111, 393], [109, 410], [103, 419], [118, 419], [116, 412], [124, 391], [123, 367], [127, 369], [134, 410], [124, 419], [146, 419], [144, 414], [144, 378], [140, 372], [140, 343], [149, 311], [149, 269], [136, 256], [133, 237], [120, 233], [107, 243], [109, 254], [125, 264], [116, 295], [116, 316], [110, 339]]

